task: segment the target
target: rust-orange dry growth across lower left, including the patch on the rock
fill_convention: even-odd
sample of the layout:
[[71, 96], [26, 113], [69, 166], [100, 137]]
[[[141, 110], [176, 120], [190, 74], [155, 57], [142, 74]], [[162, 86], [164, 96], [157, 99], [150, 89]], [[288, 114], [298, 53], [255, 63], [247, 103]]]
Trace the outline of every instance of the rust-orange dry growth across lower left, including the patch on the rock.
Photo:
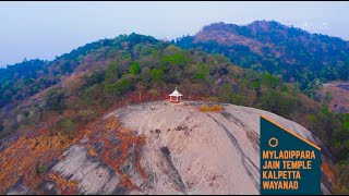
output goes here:
[[[76, 144], [84, 136], [89, 138], [88, 144], [86, 144], [89, 155], [99, 156], [104, 162], [122, 176], [119, 186], [128, 189], [139, 188], [130, 180], [130, 174], [122, 172], [122, 168], [130, 163], [130, 155], [135, 160], [135, 170], [144, 180], [147, 180], [147, 175], [141, 167], [141, 150], [145, 144], [145, 136], [122, 127], [117, 118], [111, 117], [106, 121], [97, 120], [92, 122], [88, 124], [88, 128], [80, 130], [74, 139], [71, 139], [69, 134], [63, 132], [50, 136], [48, 127], [39, 132], [40, 134], [32, 136], [21, 136], [10, 147], [0, 152], [0, 194], [4, 194], [22, 176], [24, 176], [24, 184], [36, 194], [44, 194], [39, 188], [39, 184], [44, 181], [55, 181], [58, 185], [59, 194], [76, 194], [79, 182], [68, 181], [59, 174], [46, 170], [53, 159], [59, 158], [68, 147]], [[103, 133], [103, 135], [96, 136], [99, 133]], [[119, 143], [117, 145], [108, 139], [110, 135], [115, 135], [118, 138]], [[106, 146], [98, 154], [92, 145], [100, 140]], [[112, 159], [111, 157], [117, 152], [120, 155]], [[38, 168], [41, 166], [45, 166], [44, 169], [40, 169], [44, 171], [39, 172]]]

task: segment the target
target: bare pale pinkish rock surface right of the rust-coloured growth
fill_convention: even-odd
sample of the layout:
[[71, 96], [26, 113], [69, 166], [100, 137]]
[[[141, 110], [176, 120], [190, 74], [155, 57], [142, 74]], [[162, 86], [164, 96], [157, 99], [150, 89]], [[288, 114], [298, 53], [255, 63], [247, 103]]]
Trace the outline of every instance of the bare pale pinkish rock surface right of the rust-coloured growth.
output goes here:
[[303, 126], [274, 113], [233, 105], [198, 112], [202, 103], [151, 102], [108, 115], [146, 135], [142, 166], [154, 184], [143, 193], [260, 194], [261, 114], [321, 146]]

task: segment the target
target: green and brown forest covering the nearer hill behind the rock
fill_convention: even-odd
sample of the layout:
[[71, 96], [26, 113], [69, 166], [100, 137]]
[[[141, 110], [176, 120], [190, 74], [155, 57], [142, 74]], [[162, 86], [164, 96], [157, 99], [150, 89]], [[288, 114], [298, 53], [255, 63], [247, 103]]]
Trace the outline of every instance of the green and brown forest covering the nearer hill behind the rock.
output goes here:
[[[248, 34], [248, 29], [240, 30]], [[189, 49], [151, 36], [120, 35], [85, 45], [50, 62], [24, 61], [0, 70], [0, 137], [43, 126], [52, 135], [62, 132], [73, 137], [104, 111], [164, 99], [177, 85], [191, 97], [260, 108], [302, 124], [329, 148], [340, 176], [338, 187], [348, 188], [349, 171], [341, 169], [349, 161], [348, 114], [332, 113], [304, 96], [297, 83], [284, 78], [277, 70], [280, 66], [263, 72], [238, 66], [242, 59], [263, 59], [244, 46], [220, 48], [228, 51], [226, 58], [221, 52], [192, 48], [192, 37], [179, 39], [177, 45]], [[253, 64], [241, 63], [245, 68]], [[39, 98], [31, 102], [33, 95]]]

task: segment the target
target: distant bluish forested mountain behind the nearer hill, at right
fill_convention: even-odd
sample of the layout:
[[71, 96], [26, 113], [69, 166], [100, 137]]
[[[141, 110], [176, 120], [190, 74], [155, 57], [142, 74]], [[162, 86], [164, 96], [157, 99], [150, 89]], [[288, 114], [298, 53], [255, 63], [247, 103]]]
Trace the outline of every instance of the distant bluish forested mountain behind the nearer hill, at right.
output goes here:
[[177, 39], [176, 45], [221, 53], [243, 68], [279, 74], [287, 82], [299, 82], [303, 90], [318, 82], [349, 77], [347, 40], [311, 34], [275, 21], [255, 21], [242, 26], [214, 23], [194, 36]]

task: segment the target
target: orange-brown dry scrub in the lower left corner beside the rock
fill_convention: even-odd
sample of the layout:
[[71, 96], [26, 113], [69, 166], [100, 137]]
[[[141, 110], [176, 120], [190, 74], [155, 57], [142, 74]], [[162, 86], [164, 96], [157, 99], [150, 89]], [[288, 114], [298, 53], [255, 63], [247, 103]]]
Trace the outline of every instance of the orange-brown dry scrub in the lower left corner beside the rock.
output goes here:
[[[25, 182], [35, 180], [37, 176], [33, 171], [36, 170], [38, 162], [49, 166], [53, 158], [59, 157], [76, 139], [77, 137], [69, 139], [67, 135], [61, 134], [21, 136], [19, 140], [0, 154], [0, 194], [4, 194], [21, 176], [27, 180]], [[37, 184], [32, 185], [31, 187], [35, 189]]]

